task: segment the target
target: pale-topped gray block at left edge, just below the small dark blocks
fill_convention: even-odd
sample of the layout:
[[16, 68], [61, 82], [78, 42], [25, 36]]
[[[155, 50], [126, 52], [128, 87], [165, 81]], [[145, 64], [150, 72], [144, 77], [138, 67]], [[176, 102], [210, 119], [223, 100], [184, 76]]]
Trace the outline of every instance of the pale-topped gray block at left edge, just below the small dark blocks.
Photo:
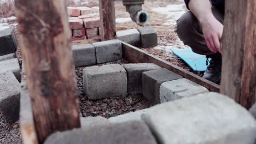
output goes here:
[[0, 74], [9, 70], [13, 72], [18, 81], [21, 80], [21, 69], [17, 58], [0, 62]]

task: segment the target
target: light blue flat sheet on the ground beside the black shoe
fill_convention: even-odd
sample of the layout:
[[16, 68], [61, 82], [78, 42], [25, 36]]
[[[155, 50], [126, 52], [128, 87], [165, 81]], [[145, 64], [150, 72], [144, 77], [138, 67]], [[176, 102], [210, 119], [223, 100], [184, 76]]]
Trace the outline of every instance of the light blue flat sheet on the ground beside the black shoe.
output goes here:
[[191, 50], [191, 48], [185, 48], [185, 49], [171, 48], [171, 50], [174, 53], [174, 55], [181, 58], [194, 71], [206, 70], [207, 68], [206, 56], [194, 53]]

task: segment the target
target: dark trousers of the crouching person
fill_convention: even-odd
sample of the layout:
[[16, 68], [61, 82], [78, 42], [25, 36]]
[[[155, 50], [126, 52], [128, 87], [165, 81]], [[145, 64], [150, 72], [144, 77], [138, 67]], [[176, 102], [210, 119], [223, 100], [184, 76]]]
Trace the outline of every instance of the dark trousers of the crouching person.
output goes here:
[[[224, 13], [215, 7], [212, 7], [212, 13], [216, 19], [223, 24]], [[177, 20], [175, 32], [185, 45], [191, 47], [195, 53], [200, 55], [213, 55], [208, 49], [205, 38], [202, 33], [202, 26], [196, 17], [188, 11]]]

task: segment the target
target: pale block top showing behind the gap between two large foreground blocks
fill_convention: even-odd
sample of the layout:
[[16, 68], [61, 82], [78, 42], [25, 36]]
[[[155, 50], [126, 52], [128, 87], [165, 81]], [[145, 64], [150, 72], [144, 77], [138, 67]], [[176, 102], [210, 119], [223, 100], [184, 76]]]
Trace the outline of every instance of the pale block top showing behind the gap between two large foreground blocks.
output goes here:
[[125, 113], [116, 117], [110, 117], [108, 120], [110, 123], [123, 123], [129, 121], [142, 121], [142, 116], [147, 113], [148, 109], [138, 110], [135, 112]]

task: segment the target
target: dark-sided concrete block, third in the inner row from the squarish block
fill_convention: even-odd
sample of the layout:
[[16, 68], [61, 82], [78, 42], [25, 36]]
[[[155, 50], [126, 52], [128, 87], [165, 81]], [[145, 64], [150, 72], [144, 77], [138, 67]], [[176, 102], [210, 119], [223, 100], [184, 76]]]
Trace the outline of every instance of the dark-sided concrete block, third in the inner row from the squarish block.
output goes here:
[[160, 103], [159, 88], [163, 82], [183, 77], [167, 69], [155, 69], [142, 73], [142, 91], [145, 98], [155, 104]]

